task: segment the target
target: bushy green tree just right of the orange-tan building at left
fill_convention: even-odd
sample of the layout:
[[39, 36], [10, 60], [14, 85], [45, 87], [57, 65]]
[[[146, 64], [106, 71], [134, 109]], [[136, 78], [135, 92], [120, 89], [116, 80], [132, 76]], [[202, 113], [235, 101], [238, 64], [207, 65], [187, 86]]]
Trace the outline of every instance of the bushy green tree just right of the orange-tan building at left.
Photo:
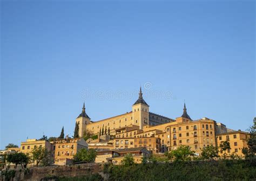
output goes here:
[[73, 157], [73, 162], [94, 162], [97, 152], [95, 149], [80, 149]]

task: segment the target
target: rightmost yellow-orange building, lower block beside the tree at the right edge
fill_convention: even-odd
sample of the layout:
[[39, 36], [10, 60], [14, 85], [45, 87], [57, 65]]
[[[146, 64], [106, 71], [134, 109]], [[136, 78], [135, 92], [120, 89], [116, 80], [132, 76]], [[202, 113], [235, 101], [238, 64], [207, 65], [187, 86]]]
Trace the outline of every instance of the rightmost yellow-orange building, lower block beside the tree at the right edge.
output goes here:
[[[228, 141], [230, 142], [230, 148], [226, 151], [227, 156], [230, 156], [233, 152], [239, 156], [244, 156], [242, 154], [242, 148], [247, 147], [247, 139], [250, 137], [249, 133], [238, 130], [229, 133], [223, 133], [217, 135], [218, 146], [221, 142]], [[223, 156], [224, 152], [220, 151], [219, 155]]]

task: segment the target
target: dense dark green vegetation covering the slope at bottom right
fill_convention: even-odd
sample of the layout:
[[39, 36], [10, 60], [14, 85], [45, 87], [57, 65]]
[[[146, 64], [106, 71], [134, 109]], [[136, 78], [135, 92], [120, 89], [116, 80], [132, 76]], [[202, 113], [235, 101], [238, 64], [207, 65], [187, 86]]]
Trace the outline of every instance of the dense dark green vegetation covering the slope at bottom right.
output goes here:
[[109, 180], [255, 180], [256, 161], [183, 161], [106, 165]]

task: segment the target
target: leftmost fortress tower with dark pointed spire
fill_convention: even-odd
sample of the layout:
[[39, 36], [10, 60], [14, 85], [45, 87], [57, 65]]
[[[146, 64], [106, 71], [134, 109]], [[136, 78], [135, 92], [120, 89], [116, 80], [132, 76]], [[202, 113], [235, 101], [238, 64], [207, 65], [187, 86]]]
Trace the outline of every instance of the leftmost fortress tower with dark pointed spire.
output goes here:
[[82, 113], [76, 119], [78, 125], [78, 135], [82, 137], [86, 131], [86, 124], [91, 123], [90, 117], [85, 113], [85, 105], [83, 105]]

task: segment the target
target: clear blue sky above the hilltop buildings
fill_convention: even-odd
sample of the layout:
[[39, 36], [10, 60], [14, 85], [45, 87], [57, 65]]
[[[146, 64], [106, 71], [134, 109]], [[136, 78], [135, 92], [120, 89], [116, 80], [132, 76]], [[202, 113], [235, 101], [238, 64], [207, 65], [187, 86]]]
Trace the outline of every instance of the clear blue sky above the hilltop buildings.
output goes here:
[[0, 149], [73, 135], [84, 101], [92, 121], [130, 112], [140, 85], [153, 113], [185, 99], [193, 120], [246, 130], [255, 2], [1, 1]]

